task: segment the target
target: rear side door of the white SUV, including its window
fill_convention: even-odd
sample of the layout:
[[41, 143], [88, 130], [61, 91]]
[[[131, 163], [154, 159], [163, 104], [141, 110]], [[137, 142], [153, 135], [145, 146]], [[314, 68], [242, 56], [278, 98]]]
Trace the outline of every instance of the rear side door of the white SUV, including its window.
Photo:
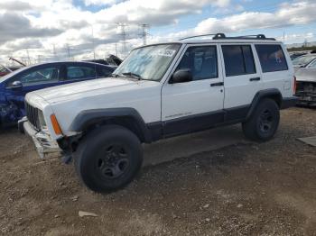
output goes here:
[[227, 121], [246, 116], [256, 93], [262, 87], [261, 71], [251, 43], [225, 43], [220, 46], [223, 57]]

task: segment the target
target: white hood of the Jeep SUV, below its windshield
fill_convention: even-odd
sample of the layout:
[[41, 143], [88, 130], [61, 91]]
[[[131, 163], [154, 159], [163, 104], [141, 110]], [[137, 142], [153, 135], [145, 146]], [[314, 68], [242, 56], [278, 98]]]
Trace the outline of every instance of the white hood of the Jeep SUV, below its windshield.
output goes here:
[[138, 81], [126, 77], [107, 77], [72, 83], [63, 86], [44, 88], [30, 93], [30, 95], [39, 95], [46, 102], [54, 104], [71, 99], [82, 98], [84, 96], [110, 94], [121, 92], [124, 90], [133, 90], [137, 87], [144, 86], [145, 84], [152, 83], [154, 83], [155, 85], [157, 84], [157, 82], [153, 81]]

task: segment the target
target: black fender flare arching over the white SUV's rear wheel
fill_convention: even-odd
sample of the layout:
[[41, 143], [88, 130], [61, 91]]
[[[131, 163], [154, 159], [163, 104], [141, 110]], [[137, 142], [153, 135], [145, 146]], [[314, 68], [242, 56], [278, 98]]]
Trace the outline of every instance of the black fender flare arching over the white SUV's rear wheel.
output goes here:
[[281, 107], [283, 96], [281, 92], [276, 88], [268, 88], [264, 90], [260, 90], [256, 93], [253, 101], [250, 104], [250, 108], [248, 110], [248, 113], [246, 114], [246, 120], [249, 119], [249, 117], [254, 113], [256, 106], [259, 104], [260, 100], [262, 100], [265, 97], [273, 97], [276, 99], [276, 103]]

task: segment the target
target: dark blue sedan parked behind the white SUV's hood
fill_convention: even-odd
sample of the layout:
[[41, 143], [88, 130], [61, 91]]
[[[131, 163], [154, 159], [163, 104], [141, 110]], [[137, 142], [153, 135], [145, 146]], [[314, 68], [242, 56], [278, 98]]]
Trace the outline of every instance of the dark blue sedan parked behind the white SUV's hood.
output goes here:
[[98, 77], [116, 67], [92, 62], [51, 62], [20, 68], [0, 77], [0, 126], [11, 126], [25, 115], [24, 96], [34, 90]]

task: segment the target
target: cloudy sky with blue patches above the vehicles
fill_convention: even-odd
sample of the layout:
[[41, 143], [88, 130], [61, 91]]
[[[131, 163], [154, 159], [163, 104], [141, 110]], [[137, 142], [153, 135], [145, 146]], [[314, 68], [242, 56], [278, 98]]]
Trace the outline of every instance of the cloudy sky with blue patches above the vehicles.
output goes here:
[[0, 61], [123, 56], [143, 43], [209, 32], [316, 41], [315, 0], [0, 0]]

